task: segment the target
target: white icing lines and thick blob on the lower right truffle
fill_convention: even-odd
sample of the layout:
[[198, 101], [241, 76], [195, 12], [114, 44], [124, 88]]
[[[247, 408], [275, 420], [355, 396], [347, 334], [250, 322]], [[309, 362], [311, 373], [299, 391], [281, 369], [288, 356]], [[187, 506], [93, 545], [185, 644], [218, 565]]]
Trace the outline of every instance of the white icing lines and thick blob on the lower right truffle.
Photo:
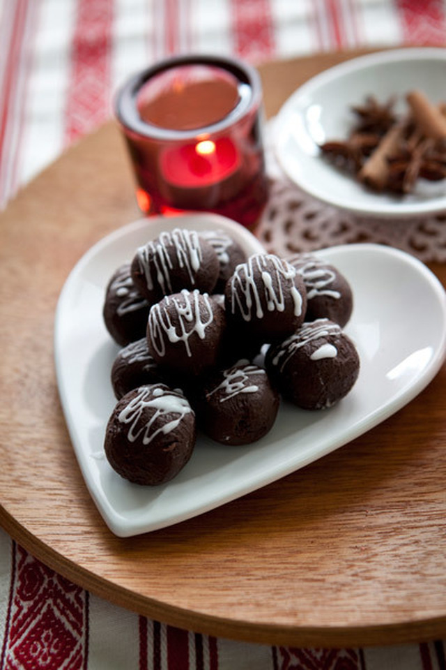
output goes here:
[[[318, 338], [329, 337], [330, 335], [337, 335], [340, 333], [341, 328], [339, 325], [337, 325], [337, 323], [330, 322], [328, 319], [316, 319], [316, 321], [305, 323], [298, 330], [298, 332], [284, 340], [281, 347], [276, 352], [275, 357], [272, 358], [272, 364], [278, 366], [282, 371], [296, 350]], [[332, 347], [332, 349], [324, 349], [323, 346], [325, 344]], [[316, 353], [318, 351], [321, 355]], [[318, 360], [321, 358], [334, 358], [337, 356], [337, 349], [333, 345], [330, 345], [330, 343], [323, 343], [321, 347], [316, 349], [316, 352], [314, 352], [316, 356], [310, 356], [312, 360]]]

